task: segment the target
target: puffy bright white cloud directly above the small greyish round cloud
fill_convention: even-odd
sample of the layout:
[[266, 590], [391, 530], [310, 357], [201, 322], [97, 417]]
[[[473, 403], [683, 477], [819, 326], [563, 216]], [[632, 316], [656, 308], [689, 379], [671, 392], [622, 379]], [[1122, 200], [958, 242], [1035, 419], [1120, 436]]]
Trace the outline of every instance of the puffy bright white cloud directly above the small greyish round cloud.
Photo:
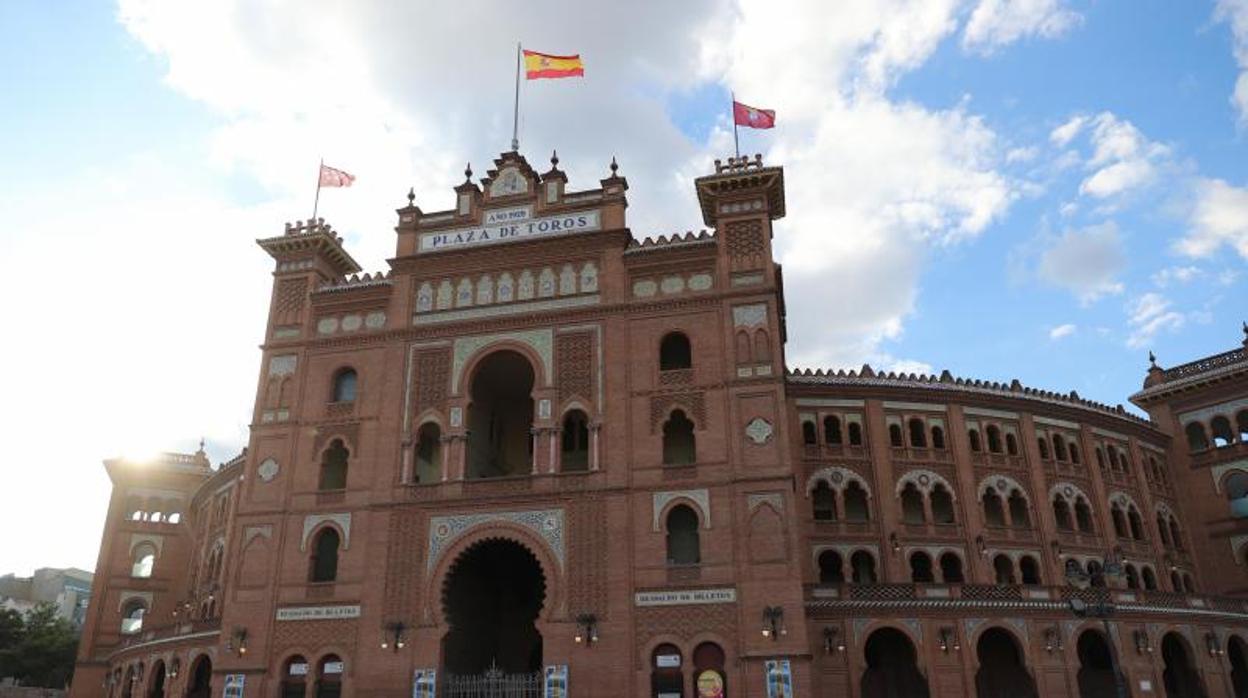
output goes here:
[[1088, 139], [1093, 152], [1087, 167], [1096, 171], [1083, 180], [1080, 191], [1096, 199], [1151, 184], [1158, 164], [1169, 156], [1167, 146], [1149, 141], [1133, 124], [1108, 111], [1092, 120]]

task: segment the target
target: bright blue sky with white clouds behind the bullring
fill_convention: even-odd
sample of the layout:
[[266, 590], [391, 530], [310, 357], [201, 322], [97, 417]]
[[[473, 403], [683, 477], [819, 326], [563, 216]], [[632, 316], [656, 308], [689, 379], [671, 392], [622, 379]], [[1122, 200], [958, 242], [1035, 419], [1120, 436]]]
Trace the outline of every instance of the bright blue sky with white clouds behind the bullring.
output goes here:
[[[272, 262], [319, 215], [387, 268], [414, 187], [508, 147], [572, 189], [612, 157], [635, 237], [693, 179], [785, 167], [790, 367], [1023, 383], [1109, 405], [1248, 318], [1248, 0], [0, 4], [0, 574], [95, 567], [101, 461], [247, 442]], [[17, 400], [20, 397], [20, 400]]]

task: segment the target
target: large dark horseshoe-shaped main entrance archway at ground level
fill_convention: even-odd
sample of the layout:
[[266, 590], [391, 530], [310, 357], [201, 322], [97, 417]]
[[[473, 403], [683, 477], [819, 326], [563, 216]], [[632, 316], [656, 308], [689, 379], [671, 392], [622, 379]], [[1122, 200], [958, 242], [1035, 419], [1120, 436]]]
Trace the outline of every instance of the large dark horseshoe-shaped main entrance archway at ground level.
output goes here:
[[500, 671], [528, 674], [542, 668], [542, 636], [534, 622], [545, 602], [545, 576], [528, 548], [490, 538], [464, 551], [447, 574], [443, 638], [448, 674]]

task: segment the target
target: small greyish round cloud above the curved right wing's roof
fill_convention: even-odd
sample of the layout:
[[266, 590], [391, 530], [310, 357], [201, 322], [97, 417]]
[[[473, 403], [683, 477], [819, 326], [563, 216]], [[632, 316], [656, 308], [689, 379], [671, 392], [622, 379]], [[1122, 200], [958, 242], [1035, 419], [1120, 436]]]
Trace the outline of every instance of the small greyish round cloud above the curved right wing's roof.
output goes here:
[[1083, 305], [1122, 292], [1118, 275], [1127, 252], [1112, 221], [1067, 230], [1051, 240], [1040, 255], [1040, 277], [1075, 293]]

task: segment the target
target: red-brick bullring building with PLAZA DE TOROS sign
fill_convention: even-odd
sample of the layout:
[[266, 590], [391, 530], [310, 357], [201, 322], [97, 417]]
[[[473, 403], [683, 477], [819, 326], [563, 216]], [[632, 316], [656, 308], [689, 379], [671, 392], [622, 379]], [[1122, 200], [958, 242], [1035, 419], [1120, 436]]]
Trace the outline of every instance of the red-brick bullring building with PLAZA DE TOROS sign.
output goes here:
[[1248, 696], [1248, 337], [1147, 420], [789, 371], [784, 170], [644, 242], [605, 174], [408, 194], [383, 272], [260, 240], [247, 448], [105, 462], [71, 694]]

